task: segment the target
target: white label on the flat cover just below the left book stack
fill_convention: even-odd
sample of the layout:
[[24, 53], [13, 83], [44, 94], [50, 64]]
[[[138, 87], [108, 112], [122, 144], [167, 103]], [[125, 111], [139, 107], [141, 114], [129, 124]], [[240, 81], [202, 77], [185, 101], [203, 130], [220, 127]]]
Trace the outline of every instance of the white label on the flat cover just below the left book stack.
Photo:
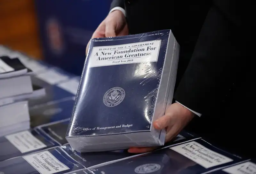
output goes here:
[[46, 147], [39, 139], [32, 135], [29, 131], [22, 131], [5, 136], [13, 146], [20, 150], [21, 153], [30, 152], [33, 150]]

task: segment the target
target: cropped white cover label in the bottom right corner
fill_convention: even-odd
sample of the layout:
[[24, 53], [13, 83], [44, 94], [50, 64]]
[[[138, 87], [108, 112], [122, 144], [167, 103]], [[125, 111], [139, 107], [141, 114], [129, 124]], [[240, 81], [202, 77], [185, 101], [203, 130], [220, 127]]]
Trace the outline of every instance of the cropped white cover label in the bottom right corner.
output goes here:
[[252, 162], [244, 162], [244, 163], [223, 169], [223, 171], [229, 174], [255, 174], [256, 164]]

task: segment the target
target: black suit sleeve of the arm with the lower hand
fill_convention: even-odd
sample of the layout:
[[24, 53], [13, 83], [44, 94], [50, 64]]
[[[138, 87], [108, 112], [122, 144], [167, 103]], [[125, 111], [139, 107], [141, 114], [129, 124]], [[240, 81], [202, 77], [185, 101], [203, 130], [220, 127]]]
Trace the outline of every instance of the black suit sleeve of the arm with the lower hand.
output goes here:
[[245, 1], [216, 0], [207, 14], [174, 94], [175, 100], [191, 110], [207, 114], [219, 108], [239, 74], [241, 62], [246, 61], [243, 49], [250, 14], [245, 13], [250, 3]]

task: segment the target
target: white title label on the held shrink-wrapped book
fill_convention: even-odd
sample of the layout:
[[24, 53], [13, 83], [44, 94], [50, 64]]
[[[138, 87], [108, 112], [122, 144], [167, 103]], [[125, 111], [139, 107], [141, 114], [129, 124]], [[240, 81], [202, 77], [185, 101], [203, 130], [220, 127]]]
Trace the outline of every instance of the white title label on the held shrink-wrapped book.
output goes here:
[[[93, 42], [96, 42], [93, 40]], [[99, 41], [97, 41], [99, 42]], [[161, 40], [92, 48], [89, 67], [155, 62]]]

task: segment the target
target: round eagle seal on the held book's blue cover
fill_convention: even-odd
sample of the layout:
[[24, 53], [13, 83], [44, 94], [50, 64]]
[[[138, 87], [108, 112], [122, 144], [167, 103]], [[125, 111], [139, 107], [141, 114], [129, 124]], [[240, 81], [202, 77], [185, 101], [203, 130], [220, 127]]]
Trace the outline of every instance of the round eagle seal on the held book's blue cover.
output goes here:
[[119, 105], [125, 97], [123, 88], [114, 87], [109, 89], [103, 97], [103, 103], [108, 107], [114, 107]]

